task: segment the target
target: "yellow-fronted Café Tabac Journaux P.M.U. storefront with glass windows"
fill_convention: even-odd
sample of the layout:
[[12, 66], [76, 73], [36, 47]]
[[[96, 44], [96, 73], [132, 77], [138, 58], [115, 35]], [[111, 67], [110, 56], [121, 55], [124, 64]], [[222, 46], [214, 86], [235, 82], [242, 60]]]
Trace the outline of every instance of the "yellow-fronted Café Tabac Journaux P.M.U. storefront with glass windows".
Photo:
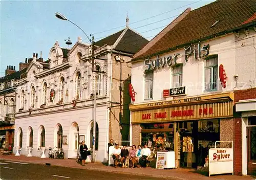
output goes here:
[[[204, 166], [216, 141], [233, 140], [233, 94], [186, 97], [130, 106], [132, 143], [175, 151], [176, 167]], [[140, 137], [140, 138], [138, 138]]]

